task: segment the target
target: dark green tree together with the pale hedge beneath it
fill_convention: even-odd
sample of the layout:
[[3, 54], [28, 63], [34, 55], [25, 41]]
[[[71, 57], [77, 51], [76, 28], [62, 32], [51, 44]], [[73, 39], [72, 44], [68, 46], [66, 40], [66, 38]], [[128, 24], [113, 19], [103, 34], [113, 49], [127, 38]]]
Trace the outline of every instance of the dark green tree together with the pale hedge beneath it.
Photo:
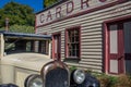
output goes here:
[[35, 14], [28, 5], [11, 1], [0, 9], [0, 30], [4, 30], [7, 17], [10, 32], [34, 33]]

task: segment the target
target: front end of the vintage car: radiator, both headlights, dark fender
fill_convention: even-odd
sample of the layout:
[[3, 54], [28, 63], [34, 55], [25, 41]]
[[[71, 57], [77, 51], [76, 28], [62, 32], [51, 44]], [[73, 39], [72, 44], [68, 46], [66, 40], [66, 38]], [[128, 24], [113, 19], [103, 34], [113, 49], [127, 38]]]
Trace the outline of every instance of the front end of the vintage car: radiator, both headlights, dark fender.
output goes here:
[[66, 63], [51, 61], [43, 66], [40, 74], [31, 74], [25, 87], [100, 87], [99, 82], [83, 70], [69, 71]]

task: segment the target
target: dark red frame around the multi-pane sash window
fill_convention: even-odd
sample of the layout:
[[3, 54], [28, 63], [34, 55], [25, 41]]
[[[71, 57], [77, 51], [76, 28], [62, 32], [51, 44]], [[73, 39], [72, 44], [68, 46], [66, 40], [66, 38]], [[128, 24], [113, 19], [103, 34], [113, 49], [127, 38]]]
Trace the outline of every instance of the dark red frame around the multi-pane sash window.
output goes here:
[[[76, 57], [69, 55], [69, 32], [79, 30], [79, 54]], [[66, 59], [81, 59], [81, 26], [74, 26], [66, 29]]]

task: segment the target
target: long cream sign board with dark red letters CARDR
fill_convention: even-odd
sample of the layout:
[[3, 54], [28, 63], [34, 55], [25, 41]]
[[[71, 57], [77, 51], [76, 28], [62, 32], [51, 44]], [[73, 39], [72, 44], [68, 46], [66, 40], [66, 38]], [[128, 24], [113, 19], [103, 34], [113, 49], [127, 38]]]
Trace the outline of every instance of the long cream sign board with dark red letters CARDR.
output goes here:
[[36, 15], [36, 27], [119, 0], [69, 0]]

